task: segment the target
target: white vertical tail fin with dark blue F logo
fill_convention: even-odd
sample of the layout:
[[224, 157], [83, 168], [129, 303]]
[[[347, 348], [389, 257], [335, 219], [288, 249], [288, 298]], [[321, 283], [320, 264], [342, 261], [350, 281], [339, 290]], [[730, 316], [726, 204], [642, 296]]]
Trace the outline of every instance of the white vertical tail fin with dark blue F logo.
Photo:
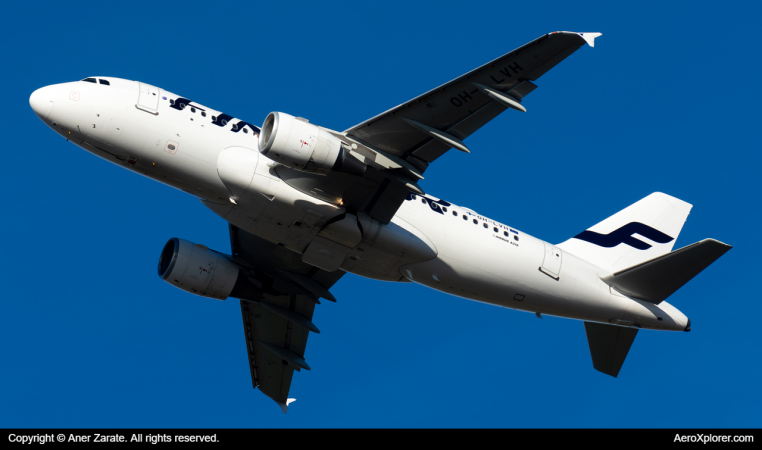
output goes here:
[[558, 247], [616, 272], [672, 251], [692, 207], [654, 192]]

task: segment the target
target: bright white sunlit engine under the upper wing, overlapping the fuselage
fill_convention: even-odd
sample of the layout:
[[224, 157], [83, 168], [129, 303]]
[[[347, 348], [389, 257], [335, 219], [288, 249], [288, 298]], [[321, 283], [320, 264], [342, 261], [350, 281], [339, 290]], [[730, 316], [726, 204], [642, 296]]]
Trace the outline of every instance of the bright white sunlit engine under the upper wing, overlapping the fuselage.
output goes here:
[[284, 166], [321, 175], [342, 172], [362, 176], [367, 167], [325, 129], [281, 112], [271, 112], [265, 118], [259, 151]]

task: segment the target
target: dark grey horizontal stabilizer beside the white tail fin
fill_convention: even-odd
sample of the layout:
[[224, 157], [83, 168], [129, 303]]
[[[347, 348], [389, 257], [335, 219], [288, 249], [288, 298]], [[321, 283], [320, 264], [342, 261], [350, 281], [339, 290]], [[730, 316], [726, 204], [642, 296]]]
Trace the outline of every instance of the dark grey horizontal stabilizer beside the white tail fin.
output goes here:
[[625, 295], [658, 305], [731, 248], [704, 239], [601, 279]]

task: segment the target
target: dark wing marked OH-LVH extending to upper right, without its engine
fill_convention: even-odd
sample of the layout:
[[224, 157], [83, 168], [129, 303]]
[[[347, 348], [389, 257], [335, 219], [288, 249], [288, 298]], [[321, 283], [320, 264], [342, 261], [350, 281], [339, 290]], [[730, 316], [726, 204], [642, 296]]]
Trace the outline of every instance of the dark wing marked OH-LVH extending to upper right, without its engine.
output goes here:
[[600, 33], [558, 31], [507, 53], [449, 83], [355, 125], [328, 130], [364, 158], [362, 177], [299, 173], [285, 167], [278, 174], [297, 189], [366, 212], [388, 223], [430, 163], [450, 148], [469, 152], [463, 140], [508, 108], [526, 111], [522, 101], [533, 82]]

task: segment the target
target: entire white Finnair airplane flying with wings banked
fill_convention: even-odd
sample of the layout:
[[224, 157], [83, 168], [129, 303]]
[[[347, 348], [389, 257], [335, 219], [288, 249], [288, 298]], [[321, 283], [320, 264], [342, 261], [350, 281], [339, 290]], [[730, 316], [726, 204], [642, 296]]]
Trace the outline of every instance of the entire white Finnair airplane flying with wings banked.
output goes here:
[[584, 322], [593, 367], [617, 377], [640, 329], [690, 331], [666, 299], [731, 246], [672, 250], [692, 205], [653, 193], [560, 244], [429, 195], [423, 173], [601, 33], [553, 32], [339, 132], [272, 112], [261, 127], [164, 89], [93, 76], [34, 91], [67, 141], [198, 197], [229, 254], [171, 238], [158, 275], [240, 301], [253, 387], [284, 413], [320, 299], [346, 273]]

